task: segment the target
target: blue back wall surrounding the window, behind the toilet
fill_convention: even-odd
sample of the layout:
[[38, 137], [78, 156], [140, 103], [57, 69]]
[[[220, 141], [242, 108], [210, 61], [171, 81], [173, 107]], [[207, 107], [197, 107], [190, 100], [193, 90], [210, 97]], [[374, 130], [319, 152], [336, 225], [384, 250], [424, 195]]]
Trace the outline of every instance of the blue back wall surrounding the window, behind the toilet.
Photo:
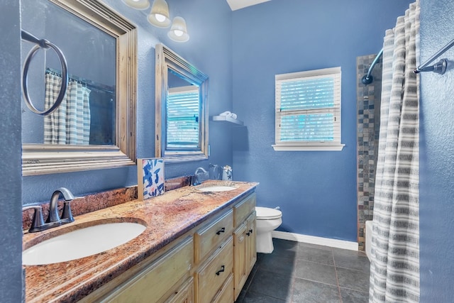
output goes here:
[[[356, 57], [378, 53], [412, 1], [279, 0], [233, 13], [233, 177], [260, 182], [282, 231], [357, 241]], [[380, 18], [377, 18], [380, 16]], [[341, 152], [275, 152], [275, 75], [342, 68]]]

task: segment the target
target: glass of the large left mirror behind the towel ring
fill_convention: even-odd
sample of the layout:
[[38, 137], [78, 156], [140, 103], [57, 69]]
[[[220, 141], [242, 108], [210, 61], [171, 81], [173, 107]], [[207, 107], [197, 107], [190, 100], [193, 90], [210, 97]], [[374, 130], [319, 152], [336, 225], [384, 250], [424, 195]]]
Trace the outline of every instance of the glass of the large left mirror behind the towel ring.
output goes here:
[[[22, 142], [115, 145], [116, 38], [48, 0], [22, 1], [22, 28], [57, 45], [70, 74], [62, 104], [44, 119], [22, 103]], [[23, 60], [32, 46], [22, 41]], [[55, 52], [39, 50], [28, 70], [33, 104], [38, 109], [50, 108], [61, 82]]]

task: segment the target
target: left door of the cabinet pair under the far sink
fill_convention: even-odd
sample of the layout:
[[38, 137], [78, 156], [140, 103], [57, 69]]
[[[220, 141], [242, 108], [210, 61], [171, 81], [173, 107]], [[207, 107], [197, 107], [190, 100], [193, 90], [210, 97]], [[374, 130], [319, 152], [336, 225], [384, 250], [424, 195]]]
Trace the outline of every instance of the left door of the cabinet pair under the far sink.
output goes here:
[[235, 299], [241, 292], [246, 280], [248, 279], [249, 263], [246, 250], [246, 228], [248, 226], [243, 223], [233, 233], [233, 250], [234, 250], [234, 285], [235, 285]]

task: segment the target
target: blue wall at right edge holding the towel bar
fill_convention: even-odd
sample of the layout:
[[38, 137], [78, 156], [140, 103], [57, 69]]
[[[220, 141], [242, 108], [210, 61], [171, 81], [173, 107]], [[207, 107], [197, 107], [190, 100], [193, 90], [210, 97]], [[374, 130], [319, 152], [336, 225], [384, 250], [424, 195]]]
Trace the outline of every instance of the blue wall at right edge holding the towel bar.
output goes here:
[[[454, 39], [453, 16], [453, 1], [421, 1], [421, 62]], [[421, 302], [453, 302], [454, 49], [441, 57], [450, 60], [445, 75], [421, 73]]]

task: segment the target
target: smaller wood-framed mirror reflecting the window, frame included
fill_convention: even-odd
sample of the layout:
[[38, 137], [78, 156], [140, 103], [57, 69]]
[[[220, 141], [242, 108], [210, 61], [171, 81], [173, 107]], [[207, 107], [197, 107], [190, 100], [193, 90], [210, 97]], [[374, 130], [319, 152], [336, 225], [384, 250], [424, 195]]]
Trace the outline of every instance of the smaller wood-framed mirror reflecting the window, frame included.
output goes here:
[[208, 159], [209, 78], [165, 45], [156, 45], [155, 156]]

